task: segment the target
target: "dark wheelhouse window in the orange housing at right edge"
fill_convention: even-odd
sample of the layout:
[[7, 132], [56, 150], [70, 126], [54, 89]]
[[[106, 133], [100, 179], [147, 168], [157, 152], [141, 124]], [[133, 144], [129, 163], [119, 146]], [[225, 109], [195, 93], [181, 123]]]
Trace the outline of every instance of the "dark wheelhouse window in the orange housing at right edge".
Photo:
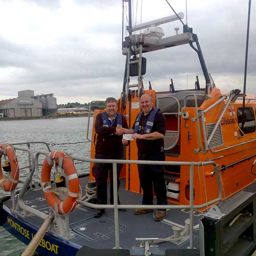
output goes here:
[[[252, 108], [245, 108], [245, 123], [244, 123], [244, 133], [252, 133], [255, 131], [255, 119]], [[238, 108], [238, 124], [242, 128], [242, 115], [243, 108]]]

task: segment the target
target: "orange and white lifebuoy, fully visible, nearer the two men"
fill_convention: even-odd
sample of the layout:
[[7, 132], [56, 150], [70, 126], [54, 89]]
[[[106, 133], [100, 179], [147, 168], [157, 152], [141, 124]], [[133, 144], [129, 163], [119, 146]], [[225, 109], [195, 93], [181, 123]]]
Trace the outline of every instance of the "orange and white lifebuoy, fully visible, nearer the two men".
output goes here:
[[[60, 161], [62, 159], [62, 163]], [[51, 192], [51, 169], [54, 162], [58, 165], [62, 165], [61, 168], [64, 169], [66, 179], [68, 179], [68, 196], [65, 201], [59, 200], [54, 192]], [[77, 205], [77, 199], [79, 196], [80, 186], [79, 179], [77, 176], [75, 165], [70, 158], [60, 151], [51, 152], [50, 157], [47, 156], [42, 164], [41, 169], [41, 184], [44, 188], [44, 194], [47, 202], [55, 210], [55, 205], [58, 206], [58, 212], [60, 215], [65, 215], [71, 212]]]

